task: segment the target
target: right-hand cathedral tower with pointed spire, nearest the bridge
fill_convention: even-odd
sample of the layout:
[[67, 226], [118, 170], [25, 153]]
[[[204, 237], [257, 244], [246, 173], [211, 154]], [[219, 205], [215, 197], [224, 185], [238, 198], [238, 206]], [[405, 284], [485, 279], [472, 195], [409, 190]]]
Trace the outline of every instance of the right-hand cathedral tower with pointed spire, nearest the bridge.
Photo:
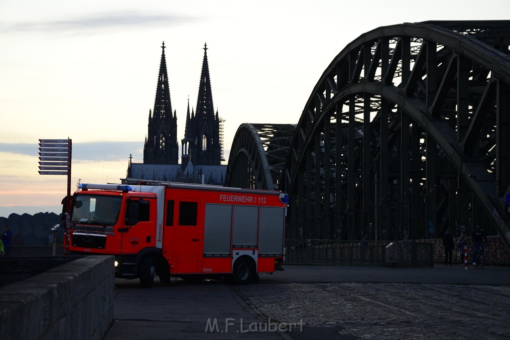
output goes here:
[[221, 165], [220, 119], [214, 112], [207, 44], [203, 47], [202, 72], [196, 101], [196, 112], [190, 114], [189, 102], [186, 129], [182, 140], [182, 166], [188, 161], [194, 165]]

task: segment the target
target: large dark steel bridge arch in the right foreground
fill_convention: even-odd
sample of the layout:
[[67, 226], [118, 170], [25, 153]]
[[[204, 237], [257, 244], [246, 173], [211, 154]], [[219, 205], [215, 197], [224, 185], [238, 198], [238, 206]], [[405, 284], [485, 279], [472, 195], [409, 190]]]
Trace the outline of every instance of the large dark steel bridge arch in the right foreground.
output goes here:
[[510, 21], [403, 23], [348, 44], [305, 104], [277, 180], [291, 197], [286, 238], [481, 225], [508, 247], [509, 44]]

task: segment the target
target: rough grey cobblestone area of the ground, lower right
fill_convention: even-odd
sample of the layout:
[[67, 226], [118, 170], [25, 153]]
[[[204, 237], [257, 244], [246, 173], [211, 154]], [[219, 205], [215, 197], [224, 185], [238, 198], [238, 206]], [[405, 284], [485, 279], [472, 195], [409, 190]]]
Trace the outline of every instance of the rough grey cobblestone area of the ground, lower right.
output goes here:
[[[261, 317], [345, 338], [510, 338], [510, 287], [407, 283], [278, 283], [234, 288]], [[299, 337], [296, 331], [288, 332]], [[342, 336], [343, 335], [343, 336]]]

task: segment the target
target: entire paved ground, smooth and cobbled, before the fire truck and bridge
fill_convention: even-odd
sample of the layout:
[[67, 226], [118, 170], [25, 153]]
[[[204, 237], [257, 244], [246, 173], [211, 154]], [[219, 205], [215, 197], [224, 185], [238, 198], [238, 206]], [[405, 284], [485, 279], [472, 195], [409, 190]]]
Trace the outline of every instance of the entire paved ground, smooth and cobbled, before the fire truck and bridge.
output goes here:
[[157, 281], [116, 280], [106, 340], [510, 338], [510, 267], [286, 266], [242, 286]]

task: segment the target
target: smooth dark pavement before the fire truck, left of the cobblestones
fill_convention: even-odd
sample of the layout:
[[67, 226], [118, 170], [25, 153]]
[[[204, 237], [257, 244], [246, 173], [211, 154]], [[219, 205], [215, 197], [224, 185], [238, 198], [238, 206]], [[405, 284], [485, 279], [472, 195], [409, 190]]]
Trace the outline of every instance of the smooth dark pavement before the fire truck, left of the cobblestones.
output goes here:
[[[264, 323], [232, 290], [219, 281], [168, 284], [142, 289], [139, 280], [115, 280], [114, 323], [105, 340], [259, 339], [249, 325]], [[264, 338], [280, 339], [276, 332]]]

